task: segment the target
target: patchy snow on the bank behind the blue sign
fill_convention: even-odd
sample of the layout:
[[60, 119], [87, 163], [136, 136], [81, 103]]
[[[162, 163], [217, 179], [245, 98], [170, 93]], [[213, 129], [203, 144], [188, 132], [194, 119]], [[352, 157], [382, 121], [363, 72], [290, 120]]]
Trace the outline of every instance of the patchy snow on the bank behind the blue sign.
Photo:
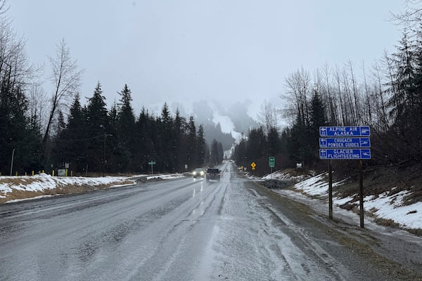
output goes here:
[[[316, 176], [290, 176], [288, 173], [276, 171], [273, 174], [264, 176], [262, 179], [293, 179], [299, 181], [293, 186], [293, 189], [302, 192], [305, 195], [317, 197], [320, 200], [326, 201], [328, 199], [328, 181], [326, 181], [326, 174], [319, 174]], [[359, 207], [359, 200], [356, 200], [358, 195], [350, 197], [340, 197], [340, 194], [335, 191], [335, 187], [341, 185], [342, 182], [333, 183], [333, 204], [341, 206], [343, 204], [352, 204]], [[388, 192], [381, 193], [378, 196], [370, 195], [364, 197], [364, 209], [366, 212], [371, 212], [378, 218], [392, 220], [398, 223], [401, 228], [422, 229], [422, 202], [416, 202], [410, 205], [404, 205], [404, 197], [409, 195], [408, 191], [398, 192], [395, 195], [388, 195]], [[352, 213], [350, 211], [350, 213]], [[359, 215], [355, 215], [359, 218]]]

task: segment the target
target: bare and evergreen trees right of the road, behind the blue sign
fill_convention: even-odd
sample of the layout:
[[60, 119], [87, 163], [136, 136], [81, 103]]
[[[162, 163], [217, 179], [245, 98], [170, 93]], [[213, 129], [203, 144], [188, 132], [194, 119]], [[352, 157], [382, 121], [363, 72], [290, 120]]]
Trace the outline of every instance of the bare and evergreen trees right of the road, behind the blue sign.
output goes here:
[[[282, 131], [274, 105], [262, 107], [261, 126], [236, 145], [238, 164], [262, 162], [269, 156], [279, 167], [319, 160], [319, 126], [371, 126], [369, 165], [405, 165], [422, 160], [422, 20], [421, 9], [396, 15], [402, 38], [393, 53], [384, 51], [359, 75], [348, 61], [343, 67], [300, 68], [286, 78], [281, 114], [290, 121]], [[275, 114], [274, 112], [277, 112]], [[325, 165], [325, 164], [324, 164]], [[259, 165], [258, 165], [259, 167]]]

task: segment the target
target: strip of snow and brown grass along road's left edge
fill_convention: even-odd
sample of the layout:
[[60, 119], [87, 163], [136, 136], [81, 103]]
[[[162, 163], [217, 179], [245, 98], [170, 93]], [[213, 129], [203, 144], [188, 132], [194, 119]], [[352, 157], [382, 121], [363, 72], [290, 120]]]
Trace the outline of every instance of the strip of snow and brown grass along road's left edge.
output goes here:
[[[146, 177], [151, 179], [172, 179], [184, 177], [181, 174], [156, 174], [156, 175], [138, 175], [138, 176], [105, 176], [100, 178], [77, 177], [77, 176], [51, 176], [49, 174], [37, 174], [34, 176], [0, 176], [0, 199], [6, 198], [8, 192], [13, 190], [26, 192], [44, 192], [46, 190], [53, 190], [58, 187], [65, 187], [67, 185], [110, 185], [110, 188], [115, 188], [120, 185], [135, 184], [132, 178]], [[51, 195], [42, 195], [32, 197], [35, 199], [39, 197], [47, 197]], [[19, 199], [25, 200], [25, 198]], [[16, 202], [19, 200], [8, 200], [7, 202]]]

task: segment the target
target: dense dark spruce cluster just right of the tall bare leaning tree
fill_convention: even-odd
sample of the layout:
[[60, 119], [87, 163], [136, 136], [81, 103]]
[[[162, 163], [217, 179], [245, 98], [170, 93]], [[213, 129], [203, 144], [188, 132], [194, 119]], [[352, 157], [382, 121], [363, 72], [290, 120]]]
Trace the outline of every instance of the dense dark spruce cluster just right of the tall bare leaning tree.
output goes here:
[[72, 171], [136, 172], [155, 162], [155, 171], [181, 172], [210, 161], [203, 126], [197, 128], [193, 117], [179, 111], [172, 117], [167, 103], [158, 117], [145, 108], [135, 117], [129, 87], [119, 94], [119, 103], [107, 110], [98, 83], [84, 107], [76, 96], [67, 124], [59, 114], [50, 157], [56, 166], [68, 162]]

